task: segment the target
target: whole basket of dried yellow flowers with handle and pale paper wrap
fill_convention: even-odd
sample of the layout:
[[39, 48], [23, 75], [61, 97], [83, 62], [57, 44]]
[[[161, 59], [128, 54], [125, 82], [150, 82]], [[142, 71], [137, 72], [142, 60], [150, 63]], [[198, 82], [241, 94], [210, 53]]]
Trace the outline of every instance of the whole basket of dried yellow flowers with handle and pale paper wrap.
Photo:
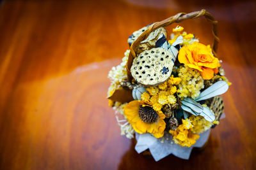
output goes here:
[[[168, 25], [202, 16], [212, 24], [212, 48], [180, 26], [167, 34]], [[108, 99], [121, 134], [135, 136], [138, 153], [149, 150], [156, 161], [171, 153], [189, 159], [220, 123], [220, 95], [231, 83], [217, 56], [217, 23], [205, 10], [178, 13], [129, 37], [130, 50], [109, 71]]]

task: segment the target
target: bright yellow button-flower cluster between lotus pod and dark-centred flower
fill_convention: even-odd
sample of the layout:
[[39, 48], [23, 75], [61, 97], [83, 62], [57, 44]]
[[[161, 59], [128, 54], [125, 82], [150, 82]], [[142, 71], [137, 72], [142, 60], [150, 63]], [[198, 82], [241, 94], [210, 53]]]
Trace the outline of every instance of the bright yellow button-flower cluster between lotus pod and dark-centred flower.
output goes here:
[[150, 102], [156, 111], [160, 111], [164, 104], [175, 104], [176, 97], [173, 95], [177, 92], [177, 87], [181, 79], [173, 77], [156, 87], [148, 87], [147, 91], [141, 95], [141, 99]]

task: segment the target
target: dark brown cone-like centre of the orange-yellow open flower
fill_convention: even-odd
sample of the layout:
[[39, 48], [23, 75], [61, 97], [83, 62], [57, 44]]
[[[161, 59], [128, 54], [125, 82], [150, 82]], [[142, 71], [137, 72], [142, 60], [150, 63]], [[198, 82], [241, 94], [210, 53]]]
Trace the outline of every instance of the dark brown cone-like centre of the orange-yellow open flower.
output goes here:
[[140, 106], [139, 115], [141, 120], [148, 124], [156, 122], [158, 117], [156, 111], [150, 106]]

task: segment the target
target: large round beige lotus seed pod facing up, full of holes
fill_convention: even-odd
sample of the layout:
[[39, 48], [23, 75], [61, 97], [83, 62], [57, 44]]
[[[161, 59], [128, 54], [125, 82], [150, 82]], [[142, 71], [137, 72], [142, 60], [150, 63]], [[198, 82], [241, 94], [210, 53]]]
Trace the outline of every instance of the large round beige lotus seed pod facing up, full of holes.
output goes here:
[[131, 74], [143, 85], [158, 85], [171, 76], [174, 62], [172, 54], [163, 48], [146, 50], [132, 62]]

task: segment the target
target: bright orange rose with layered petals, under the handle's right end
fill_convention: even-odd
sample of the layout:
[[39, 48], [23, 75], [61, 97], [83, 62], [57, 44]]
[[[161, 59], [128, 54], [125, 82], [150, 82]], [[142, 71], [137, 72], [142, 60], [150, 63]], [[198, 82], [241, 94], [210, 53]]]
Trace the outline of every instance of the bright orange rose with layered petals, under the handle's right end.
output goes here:
[[211, 48], [194, 42], [192, 45], [180, 48], [178, 59], [180, 63], [200, 71], [204, 80], [210, 80], [218, 73], [219, 60], [212, 55]]

